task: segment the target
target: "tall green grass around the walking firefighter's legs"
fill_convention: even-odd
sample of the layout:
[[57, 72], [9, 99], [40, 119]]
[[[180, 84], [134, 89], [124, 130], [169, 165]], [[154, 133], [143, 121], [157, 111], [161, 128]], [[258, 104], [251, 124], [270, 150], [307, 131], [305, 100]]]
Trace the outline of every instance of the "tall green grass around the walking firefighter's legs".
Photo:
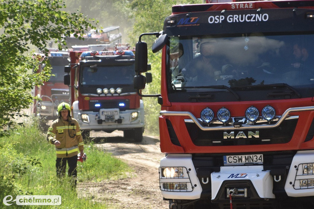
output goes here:
[[[106, 204], [95, 203], [91, 197], [78, 198], [69, 178], [57, 179], [54, 146], [37, 127], [36, 122], [28, 122], [10, 136], [0, 138], [0, 208], [7, 195], [13, 196], [13, 200], [16, 195], [60, 195], [62, 204], [57, 208], [107, 208]], [[78, 184], [125, 178], [130, 171], [126, 163], [98, 150], [93, 144], [84, 147], [87, 160], [78, 162]], [[21, 208], [15, 203], [10, 206], [17, 207]], [[48, 207], [51, 206], [40, 206]]]

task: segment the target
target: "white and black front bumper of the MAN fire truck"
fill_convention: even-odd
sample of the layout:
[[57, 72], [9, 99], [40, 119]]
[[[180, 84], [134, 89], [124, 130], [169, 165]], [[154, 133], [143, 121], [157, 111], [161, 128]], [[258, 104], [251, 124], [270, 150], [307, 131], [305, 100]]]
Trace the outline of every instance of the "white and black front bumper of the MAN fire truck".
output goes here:
[[[279, 152], [280, 153], [280, 152]], [[164, 183], [178, 182], [176, 178], [161, 178], [160, 190], [166, 199], [211, 199], [213, 203], [226, 202], [228, 190], [240, 189], [235, 196], [239, 201], [264, 200], [286, 197], [314, 196], [314, 150], [287, 153], [263, 153], [273, 161], [263, 165], [215, 166], [221, 156], [195, 154], [168, 154], [160, 167], [184, 167], [189, 171], [184, 182], [191, 182], [193, 190], [176, 191], [163, 188]], [[307, 168], [313, 169], [304, 171]], [[182, 180], [181, 180], [182, 181]], [[308, 185], [306, 182], [309, 182]]]

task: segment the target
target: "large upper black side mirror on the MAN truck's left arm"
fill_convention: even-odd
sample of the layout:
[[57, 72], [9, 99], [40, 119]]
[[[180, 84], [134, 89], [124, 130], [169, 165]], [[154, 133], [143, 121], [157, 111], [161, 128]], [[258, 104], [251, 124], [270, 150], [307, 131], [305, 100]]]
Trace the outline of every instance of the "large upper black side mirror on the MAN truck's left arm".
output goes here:
[[147, 71], [147, 44], [138, 41], [135, 45], [135, 72]]

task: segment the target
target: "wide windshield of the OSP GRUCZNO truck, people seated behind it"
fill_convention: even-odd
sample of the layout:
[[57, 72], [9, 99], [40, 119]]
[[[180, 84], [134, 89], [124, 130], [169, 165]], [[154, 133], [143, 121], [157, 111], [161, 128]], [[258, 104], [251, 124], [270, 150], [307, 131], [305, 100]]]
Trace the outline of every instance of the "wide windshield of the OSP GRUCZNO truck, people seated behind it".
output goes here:
[[251, 88], [246, 86], [278, 83], [313, 88], [313, 38], [313, 34], [300, 33], [172, 36], [167, 54], [168, 89], [226, 91], [203, 88], [224, 85], [247, 91]]

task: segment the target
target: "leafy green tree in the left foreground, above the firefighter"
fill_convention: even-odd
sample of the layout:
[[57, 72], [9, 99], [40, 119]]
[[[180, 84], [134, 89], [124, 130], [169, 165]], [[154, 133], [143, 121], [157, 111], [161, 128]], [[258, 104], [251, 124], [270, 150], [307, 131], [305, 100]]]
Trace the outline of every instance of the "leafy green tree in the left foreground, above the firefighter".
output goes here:
[[62, 36], [79, 36], [97, 25], [82, 13], [67, 13], [64, 8], [61, 0], [0, 0], [0, 136], [29, 107], [30, 89], [50, 76], [49, 67], [40, 74], [28, 73], [39, 64], [27, 54], [30, 46], [47, 51], [46, 41], [55, 40], [61, 49]]

